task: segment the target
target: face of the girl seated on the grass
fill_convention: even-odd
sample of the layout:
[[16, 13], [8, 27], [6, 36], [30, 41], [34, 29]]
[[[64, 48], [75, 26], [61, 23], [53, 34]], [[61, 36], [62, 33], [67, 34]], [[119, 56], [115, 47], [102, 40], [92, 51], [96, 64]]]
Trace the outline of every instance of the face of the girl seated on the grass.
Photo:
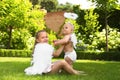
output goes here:
[[38, 43], [48, 43], [48, 35], [46, 32], [40, 32], [36, 39]]

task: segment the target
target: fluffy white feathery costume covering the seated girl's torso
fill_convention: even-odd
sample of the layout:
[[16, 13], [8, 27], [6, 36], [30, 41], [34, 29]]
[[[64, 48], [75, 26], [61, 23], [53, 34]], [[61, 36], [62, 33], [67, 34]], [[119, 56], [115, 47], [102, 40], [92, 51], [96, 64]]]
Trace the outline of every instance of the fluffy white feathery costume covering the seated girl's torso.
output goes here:
[[24, 70], [25, 73], [27, 75], [42, 75], [42, 73], [50, 72], [53, 50], [54, 48], [47, 43], [36, 44], [32, 60], [33, 64]]

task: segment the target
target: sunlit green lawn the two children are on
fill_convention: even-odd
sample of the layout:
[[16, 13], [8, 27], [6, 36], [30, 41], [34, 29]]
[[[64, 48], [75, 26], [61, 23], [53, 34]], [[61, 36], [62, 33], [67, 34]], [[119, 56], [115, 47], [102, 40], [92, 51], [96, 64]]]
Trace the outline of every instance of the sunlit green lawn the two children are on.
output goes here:
[[[55, 59], [54, 59], [55, 60]], [[27, 76], [24, 69], [30, 66], [30, 58], [0, 57], [0, 80], [120, 80], [120, 62], [77, 60], [74, 68], [83, 70], [88, 75]]]

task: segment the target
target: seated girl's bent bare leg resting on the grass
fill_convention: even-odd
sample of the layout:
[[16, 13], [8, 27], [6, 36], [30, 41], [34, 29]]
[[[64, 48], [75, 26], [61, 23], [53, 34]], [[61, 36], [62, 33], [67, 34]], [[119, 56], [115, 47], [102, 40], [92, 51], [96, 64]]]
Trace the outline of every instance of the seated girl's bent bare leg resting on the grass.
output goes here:
[[79, 74], [79, 72], [74, 70], [65, 60], [55, 62], [50, 73], [57, 73], [60, 69], [63, 69], [70, 74]]

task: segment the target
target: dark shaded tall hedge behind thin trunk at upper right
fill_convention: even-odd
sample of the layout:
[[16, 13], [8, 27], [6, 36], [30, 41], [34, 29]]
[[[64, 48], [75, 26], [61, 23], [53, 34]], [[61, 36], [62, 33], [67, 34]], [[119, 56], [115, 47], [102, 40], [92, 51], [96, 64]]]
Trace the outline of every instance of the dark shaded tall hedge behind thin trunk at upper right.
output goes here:
[[[101, 30], [105, 28], [105, 11], [103, 9], [95, 8], [94, 10], [96, 13], [99, 14], [99, 24], [101, 26]], [[109, 11], [108, 15], [108, 25], [113, 28], [119, 29], [119, 22], [120, 22], [120, 9], [115, 7], [113, 10]]]

